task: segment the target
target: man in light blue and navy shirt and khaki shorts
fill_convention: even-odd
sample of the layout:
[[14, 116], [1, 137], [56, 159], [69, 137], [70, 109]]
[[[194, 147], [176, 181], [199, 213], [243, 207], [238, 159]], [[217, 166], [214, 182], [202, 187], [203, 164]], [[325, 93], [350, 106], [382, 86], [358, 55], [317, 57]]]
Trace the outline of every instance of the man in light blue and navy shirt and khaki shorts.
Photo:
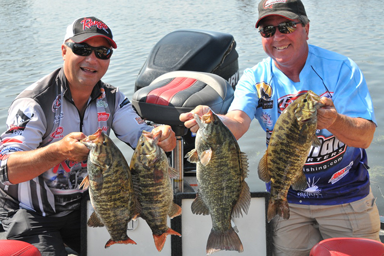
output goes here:
[[[376, 120], [362, 72], [351, 59], [307, 44], [309, 19], [300, 0], [262, 0], [256, 28], [269, 57], [244, 71], [222, 116], [234, 136], [243, 136], [256, 118], [268, 145], [276, 120], [298, 96], [312, 90], [325, 104], [317, 111], [321, 146], [311, 147], [303, 168], [308, 187], [291, 187], [289, 219], [271, 220], [273, 254], [308, 255], [317, 242], [334, 237], [380, 241], [365, 151]], [[180, 120], [196, 132], [192, 114], [206, 111], [199, 106]]]

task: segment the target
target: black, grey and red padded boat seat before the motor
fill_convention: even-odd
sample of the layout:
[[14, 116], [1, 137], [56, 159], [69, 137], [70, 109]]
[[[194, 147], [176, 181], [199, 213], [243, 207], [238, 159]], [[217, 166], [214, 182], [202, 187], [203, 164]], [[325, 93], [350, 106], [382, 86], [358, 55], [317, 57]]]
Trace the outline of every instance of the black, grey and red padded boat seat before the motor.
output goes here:
[[189, 112], [198, 105], [208, 105], [215, 113], [225, 114], [232, 100], [232, 87], [216, 74], [173, 71], [136, 91], [132, 104], [145, 120], [184, 127], [179, 120], [181, 113]]

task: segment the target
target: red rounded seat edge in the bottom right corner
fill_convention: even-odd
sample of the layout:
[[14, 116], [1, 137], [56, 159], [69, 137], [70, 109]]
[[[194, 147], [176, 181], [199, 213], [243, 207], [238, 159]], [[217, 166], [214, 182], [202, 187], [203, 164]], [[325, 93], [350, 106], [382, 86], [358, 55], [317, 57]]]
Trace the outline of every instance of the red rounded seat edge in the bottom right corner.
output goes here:
[[365, 238], [330, 238], [313, 246], [309, 256], [384, 256], [384, 244]]

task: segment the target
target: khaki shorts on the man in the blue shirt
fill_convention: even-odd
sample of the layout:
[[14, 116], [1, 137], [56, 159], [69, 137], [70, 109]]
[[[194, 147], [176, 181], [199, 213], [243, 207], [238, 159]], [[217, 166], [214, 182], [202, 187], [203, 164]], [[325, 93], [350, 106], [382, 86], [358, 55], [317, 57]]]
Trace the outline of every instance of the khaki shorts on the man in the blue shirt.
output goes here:
[[274, 256], [308, 256], [323, 239], [348, 237], [380, 241], [380, 217], [370, 194], [340, 205], [289, 204], [290, 217], [271, 220]]

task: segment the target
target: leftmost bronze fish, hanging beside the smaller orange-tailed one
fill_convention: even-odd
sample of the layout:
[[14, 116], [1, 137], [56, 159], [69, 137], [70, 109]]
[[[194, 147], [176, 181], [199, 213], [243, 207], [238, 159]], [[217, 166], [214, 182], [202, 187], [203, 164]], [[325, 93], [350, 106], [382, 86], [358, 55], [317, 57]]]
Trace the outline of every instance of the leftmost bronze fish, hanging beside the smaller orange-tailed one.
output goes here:
[[111, 138], [97, 130], [80, 141], [89, 149], [88, 176], [80, 187], [89, 188], [94, 212], [88, 220], [90, 227], [105, 226], [113, 244], [136, 244], [127, 236], [127, 224], [135, 215], [136, 198], [129, 165]]

